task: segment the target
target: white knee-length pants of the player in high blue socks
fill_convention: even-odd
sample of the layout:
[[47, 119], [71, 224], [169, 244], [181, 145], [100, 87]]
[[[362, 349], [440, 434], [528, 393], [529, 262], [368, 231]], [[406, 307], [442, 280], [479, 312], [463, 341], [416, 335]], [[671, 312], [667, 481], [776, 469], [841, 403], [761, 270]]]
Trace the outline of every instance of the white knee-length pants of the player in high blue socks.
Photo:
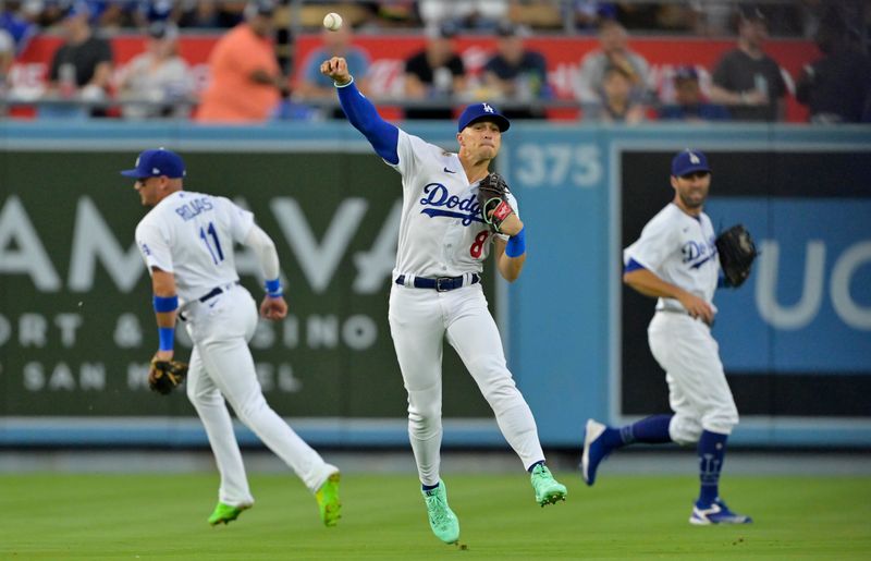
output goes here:
[[672, 440], [698, 442], [702, 430], [732, 434], [738, 408], [711, 328], [687, 314], [658, 312], [648, 327], [648, 340], [668, 382]]

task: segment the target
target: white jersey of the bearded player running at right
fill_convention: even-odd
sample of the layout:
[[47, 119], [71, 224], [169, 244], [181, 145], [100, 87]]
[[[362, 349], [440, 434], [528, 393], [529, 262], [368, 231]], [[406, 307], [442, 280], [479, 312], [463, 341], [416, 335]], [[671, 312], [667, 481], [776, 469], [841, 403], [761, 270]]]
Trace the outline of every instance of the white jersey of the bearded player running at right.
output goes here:
[[[623, 261], [627, 265], [634, 259], [665, 282], [712, 304], [720, 275], [715, 237], [708, 215], [691, 217], [672, 203], [650, 219], [641, 236], [623, 251]], [[657, 309], [684, 307], [674, 298], [659, 298]]]

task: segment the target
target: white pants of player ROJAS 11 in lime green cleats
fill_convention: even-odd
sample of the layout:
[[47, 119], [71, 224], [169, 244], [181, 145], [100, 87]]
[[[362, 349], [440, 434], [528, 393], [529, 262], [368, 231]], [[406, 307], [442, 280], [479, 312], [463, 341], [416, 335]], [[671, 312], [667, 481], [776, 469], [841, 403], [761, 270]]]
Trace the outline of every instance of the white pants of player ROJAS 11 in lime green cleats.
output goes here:
[[326, 463], [263, 398], [247, 344], [257, 327], [257, 305], [250, 293], [233, 285], [205, 303], [193, 302], [185, 306], [184, 316], [194, 341], [187, 397], [206, 427], [221, 474], [219, 500], [233, 507], [254, 503], [224, 399], [238, 419], [281, 458], [309, 490], [317, 490], [338, 468]]

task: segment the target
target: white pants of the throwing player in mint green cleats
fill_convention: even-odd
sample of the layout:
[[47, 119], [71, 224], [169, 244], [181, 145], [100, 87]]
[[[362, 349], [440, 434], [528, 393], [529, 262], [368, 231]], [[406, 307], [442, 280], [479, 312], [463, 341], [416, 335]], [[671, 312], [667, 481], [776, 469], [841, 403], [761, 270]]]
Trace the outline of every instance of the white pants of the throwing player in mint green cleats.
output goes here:
[[445, 336], [524, 467], [544, 460], [536, 420], [505, 365], [502, 340], [480, 284], [449, 292], [394, 284], [389, 318], [408, 392], [408, 437], [422, 484], [439, 483]]

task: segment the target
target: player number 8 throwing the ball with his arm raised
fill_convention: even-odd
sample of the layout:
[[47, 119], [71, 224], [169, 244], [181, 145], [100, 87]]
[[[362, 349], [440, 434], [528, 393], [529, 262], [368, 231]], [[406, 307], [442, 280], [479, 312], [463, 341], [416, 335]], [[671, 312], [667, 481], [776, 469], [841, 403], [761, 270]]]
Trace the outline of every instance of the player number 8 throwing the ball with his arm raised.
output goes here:
[[[517, 279], [526, 259], [524, 224], [514, 197], [508, 194], [504, 204], [486, 214], [477, 198], [480, 184], [491, 183], [488, 168], [508, 120], [489, 103], [467, 107], [457, 127], [459, 153], [452, 154], [383, 121], [357, 89], [344, 59], [324, 61], [321, 72], [334, 81], [351, 124], [402, 175], [403, 216], [389, 319], [408, 392], [408, 435], [432, 532], [447, 544], [459, 539], [459, 523], [439, 476], [445, 338], [530, 472], [538, 503], [564, 500], [566, 488], [544, 465], [536, 422], [505, 366], [481, 289], [481, 270], [491, 248], [508, 281]], [[488, 221], [496, 218], [502, 233], [494, 234]]]

